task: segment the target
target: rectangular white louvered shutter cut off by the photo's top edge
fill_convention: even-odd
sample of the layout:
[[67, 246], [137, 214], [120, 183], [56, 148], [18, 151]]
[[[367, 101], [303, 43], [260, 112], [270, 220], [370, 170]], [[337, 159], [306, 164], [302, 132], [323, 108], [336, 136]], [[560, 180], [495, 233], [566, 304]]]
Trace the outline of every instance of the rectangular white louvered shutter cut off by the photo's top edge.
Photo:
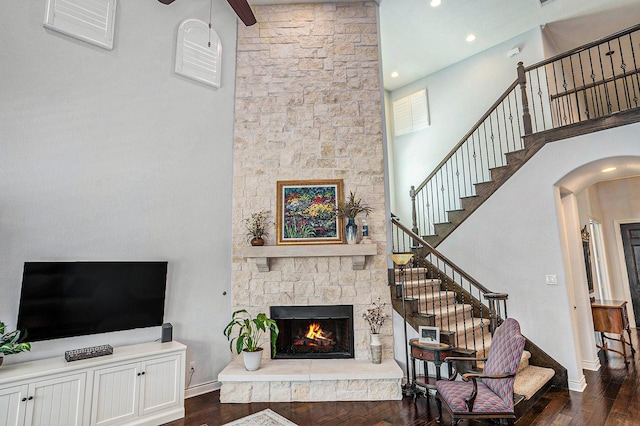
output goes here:
[[44, 26], [113, 49], [116, 0], [47, 0]]

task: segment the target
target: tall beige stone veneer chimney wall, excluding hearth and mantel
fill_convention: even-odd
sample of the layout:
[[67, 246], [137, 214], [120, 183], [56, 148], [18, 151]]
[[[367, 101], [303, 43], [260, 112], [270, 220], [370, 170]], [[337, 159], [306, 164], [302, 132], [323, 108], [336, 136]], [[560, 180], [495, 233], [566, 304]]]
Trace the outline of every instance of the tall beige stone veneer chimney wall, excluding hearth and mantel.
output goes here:
[[[383, 358], [393, 358], [377, 5], [253, 9], [258, 23], [238, 29], [233, 308], [353, 304], [356, 359], [367, 359], [361, 315], [380, 296], [390, 316], [381, 330]], [[375, 209], [367, 222], [378, 254], [367, 256], [364, 270], [354, 271], [347, 258], [310, 257], [271, 259], [270, 271], [259, 272], [241, 256], [242, 219], [262, 209], [275, 218], [277, 181], [298, 179], [343, 179], [346, 194], [355, 191]], [[267, 244], [275, 245], [274, 228]]]

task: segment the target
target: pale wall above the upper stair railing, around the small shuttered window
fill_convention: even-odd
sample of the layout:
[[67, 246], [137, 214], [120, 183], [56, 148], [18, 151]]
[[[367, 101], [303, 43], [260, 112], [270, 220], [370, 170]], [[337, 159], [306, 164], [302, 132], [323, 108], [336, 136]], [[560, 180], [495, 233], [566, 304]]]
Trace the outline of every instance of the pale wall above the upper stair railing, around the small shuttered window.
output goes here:
[[[514, 47], [520, 48], [520, 54], [508, 58], [507, 52]], [[426, 129], [390, 142], [395, 170], [393, 212], [405, 225], [411, 227], [411, 185], [420, 185], [516, 80], [518, 62], [531, 65], [542, 59], [541, 32], [536, 28], [391, 93], [393, 102], [426, 88], [431, 121]]]

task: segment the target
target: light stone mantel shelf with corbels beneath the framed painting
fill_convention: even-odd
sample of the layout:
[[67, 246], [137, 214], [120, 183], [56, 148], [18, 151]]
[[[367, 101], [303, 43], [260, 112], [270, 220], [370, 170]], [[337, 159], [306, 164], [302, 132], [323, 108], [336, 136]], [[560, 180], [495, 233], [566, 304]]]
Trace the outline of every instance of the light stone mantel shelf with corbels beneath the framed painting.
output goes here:
[[241, 256], [255, 259], [258, 271], [269, 272], [272, 257], [351, 257], [354, 270], [364, 269], [365, 256], [378, 253], [377, 244], [322, 244], [243, 247]]

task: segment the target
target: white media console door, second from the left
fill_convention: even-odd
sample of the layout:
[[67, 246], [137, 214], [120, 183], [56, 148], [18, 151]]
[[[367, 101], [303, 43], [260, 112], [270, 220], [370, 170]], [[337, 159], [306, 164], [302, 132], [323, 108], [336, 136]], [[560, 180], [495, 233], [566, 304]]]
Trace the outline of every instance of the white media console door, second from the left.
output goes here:
[[86, 374], [52, 378], [29, 385], [25, 425], [82, 425]]

